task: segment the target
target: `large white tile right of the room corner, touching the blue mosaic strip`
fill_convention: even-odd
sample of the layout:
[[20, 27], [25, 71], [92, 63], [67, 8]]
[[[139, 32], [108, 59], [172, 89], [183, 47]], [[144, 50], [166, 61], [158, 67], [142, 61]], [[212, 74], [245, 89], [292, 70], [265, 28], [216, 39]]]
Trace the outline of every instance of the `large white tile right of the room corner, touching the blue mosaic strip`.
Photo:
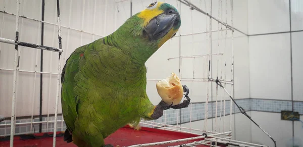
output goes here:
[[289, 33], [249, 37], [250, 97], [291, 100]]

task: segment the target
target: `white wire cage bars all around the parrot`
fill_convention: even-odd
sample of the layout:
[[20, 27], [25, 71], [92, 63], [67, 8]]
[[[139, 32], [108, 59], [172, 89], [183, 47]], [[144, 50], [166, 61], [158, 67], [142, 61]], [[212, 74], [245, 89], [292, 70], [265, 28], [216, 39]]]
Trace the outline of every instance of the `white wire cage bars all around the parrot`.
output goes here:
[[[122, 0], [122, 1], [119, 1], [119, 2], [116, 2], [116, 4], [119, 4], [119, 3], [122, 3], [122, 2], [125, 2], [125, 1], [131, 1], [131, 0]], [[84, 0], [85, 2], [85, 0]], [[94, 18], [96, 17], [96, 0], [94, 1]], [[196, 10], [200, 13], [203, 13], [205, 14], [208, 19], [209, 19], [209, 24], [206, 22], [206, 27], [207, 27], [207, 31], [206, 32], [201, 32], [201, 33], [193, 33], [193, 30], [192, 30], [192, 33], [191, 34], [184, 34], [184, 35], [176, 35], [175, 37], [179, 37], [181, 38], [182, 36], [189, 36], [189, 35], [196, 35], [196, 34], [206, 34], [208, 36], [208, 41], [209, 41], [209, 54], [204, 54], [204, 55], [192, 55], [192, 56], [179, 56], [179, 57], [173, 57], [173, 58], [169, 58], [168, 60], [173, 60], [173, 59], [179, 59], [180, 62], [182, 62], [182, 59], [185, 59], [185, 58], [206, 58], [208, 59], [210, 62], [208, 65], [205, 65], [204, 67], [206, 67], [207, 69], [209, 69], [208, 67], [210, 67], [210, 63], [212, 61], [212, 57], [217, 57], [217, 64], [219, 63], [219, 58], [220, 58], [220, 61], [222, 63], [225, 62], [225, 69], [226, 69], [226, 41], [225, 41], [225, 47], [224, 47], [224, 52], [219, 52], [219, 47], [218, 47], [218, 52], [217, 53], [212, 53], [212, 33], [213, 32], [218, 32], [218, 36], [219, 36], [219, 32], [221, 32], [221, 43], [222, 43], [222, 40], [223, 40], [223, 37], [222, 37], [222, 33], [225, 31], [225, 40], [226, 40], [226, 36], [227, 36], [227, 31], [231, 31], [231, 38], [232, 38], [232, 45], [231, 45], [231, 49], [232, 49], [232, 57], [231, 57], [231, 79], [230, 80], [227, 80], [226, 79], [226, 72], [224, 72], [224, 77], [219, 79], [219, 81], [221, 83], [224, 83], [224, 87], [226, 86], [226, 84], [229, 84], [231, 86], [231, 91], [232, 91], [232, 95], [234, 95], [234, 88], [233, 88], [233, 85], [234, 85], [234, 65], [233, 65], [233, 61], [234, 61], [234, 46], [233, 46], [233, 32], [234, 32], [234, 28], [233, 28], [233, 1], [231, 0], [231, 26], [227, 24], [227, 18], [225, 20], [225, 22], [223, 22], [223, 17], [222, 17], [222, 13], [221, 12], [221, 17], [220, 17], [220, 10], [219, 11], [219, 14], [218, 14], [218, 18], [215, 18], [214, 16], [212, 16], [212, 13], [206, 13], [205, 11], [203, 11], [202, 9], [198, 8], [197, 6], [193, 5], [191, 3], [191, 1], [186, 1], [186, 0], [176, 0], [177, 2], [177, 5], [181, 5], [182, 4], [185, 4], [187, 6], [189, 6], [192, 10]], [[179, 2], [179, 4], [178, 4]], [[220, 0], [221, 2], [221, 11], [223, 10], [222, 9], [222, 0]], [[219, 2], [219, 5], [220, 5], [220, 2]], [[228, 13], [227, 11], [227, 1], [225, 0], [226, 4], [226, 14]], [[106, 0], [106, 4], [108, 3], [108, 1]], [[85, 3], [84, 3], [85, 4]], [[29, 70], [21, 70], [18, 68], [17, 66], [17, 61], [18, 61], [18, 50], [15, 50], [15, 61], [14, 61], [14, 69], [7, 69], [7, 68], [0, 68], [0, 70], [6, 70], [6, 71], [13, 71], [14, 72], [14, 80], [13, 80], [13, 97], [12, 97], [12, 118], [11, 118], [11, 124], [0, 124], [0, 126], [11, 126], [11, 146], [13, 146], [13, 136], [14, 136], [14, 133], [15, 133], [15, 125], [23, 125], [23, 124], [41, 124], [41, 123], [54, 123], [54, 136], [53, 136], [53, 146], [55, 147], [56, 146], [56, 132], [57, 132], [57, 122], [61, 122], [61, 127], [63, 126], [63, 122], [64, 120], [58, 120], [58, 104], [59, 104], [59, 92], [60, 92], [60, 73], [61, 73], [61, 61], [62, 61], [62, 58], [63, 60], [65, 60], [66, 56], [67, 56], [67, 52], [64, 53], [64, 56], [62, 57], [62, 53], [63, 53], [63, 50], [62, 50], [62, 44], [61, 44], [61, 27], [62, 28], [67, 28], [68, 29], [68, 36], [67, 36], [67, 40], [69, 40], [69, 36], [70, 36], [70, 30], [75, 30], [75, 31], [78, 31], [81, 33], [81, 45], [82, 45], [82, 37], [83, 37], [83, 33], [87, 33], [87, 34], [91, 34], [92, 35], [92, 40], [94, 40], [94, 36], [99, 36], [99, 37], [102, 37], [104, 35], [98, 35], [98, 34], [95, 34], [94, 33], [94, 30], [95, 30], [95, 24], [93, 24], [93, 32], [87, 32], [87, 31], [84, 31], [83, 30], [83, 23], [84, 23], [84, 15], [82, 16], [82, 19], [81, 19], [81, 29], [75, 29], [75, 28], [71, 28], [71, 18], [69, 18], [69, 24], [68, 26], [62, 26], [61, 25], [61, 22], [60, 22], [60, 7], [59, 7], [59, 0], [57, 0], [57, 22], [58, 24], [56, 23], [51, 23], [51, 22], [47, 22], [47, 21], [42, 21], [42, 20], [37, 20], [37, 19], [33, 19], [33, 18], [30, 18], [30, 17], [25, 17], [25, 16], [20, 16], [19, 15], [19, 8], [20, 8], [20, 2], [19, 0], [17, 0], [17, 14], [13, 14], [13, 13], [9, 13], [9, 12], [6, 12], [5, 10], [4, 11], [0, 11], [0, 13], [3, 13], [3, 14], [7, 14], [7, 15], [14, 15], [16, 16], [16, 32], [18, 32], [18, 26], [19, 26], [19, 18], [24, 18], [24, 19], [29, 19], [29, 20], [32, 20], [32, 21], [37, 21], [37, 22], [40, 22], [40, 23], [45, 23], [45, 24], [51, 24], [51, 25], [54, 25], [54, 28], [55, 26], [58, 26], [58, 39], [59, 39], [59, 48], [56, 48], [56, 47], [49, 47], [49, 46], [44, 46], [44, 45], [37, 45], [37, 44], [32, 44], [32, 43], [27, 43], [27, 42], [22, 42], [22, 41], [19, 41], [18, 40], [18, 37], [16, 35], [16, 40], [12, 40], [12, 39], [7, 39], [7, 38], [2, 38], [2, 31], [1, 31], [1, 36], [0, 36], [0, 42], [4, 42], [4, 43], [9, 43], [9, 44], [14, 44], [16, 49], [18, 47], [18, 45], [21, 45], [21, 46], [26, 46], [26, 47], [31, 47], [31, 48], [36, 48], [36, 49], [39, 49], [39, 50], [45, 50], [45, 51], [51, 51], [51, 52], [56, 52], [56, 53], [59, 53], [59, 61], [58, 61], [58, 71], [57, 73], [54, 73], [54, 72], [40, 72], [40, 71], [37, 71], [36, 68], [34, 71], [29, 71]], [[72, 1], [70, 2], [70, 8], [72, 7]], [[210, 9], [212, 9], [212, 3], [210, 3]], [[105, 11], [106, 12], [106, 11]], [[70, 12], [69, 14], [71, 15], [71, 9], [70, 9]], [[82, 10], [82, 14], [84, 14], [84, 9]], [[117, 14], [115, 15], [115, 22], [117, 21]], [[105, 13], [105, 18], [107, 17], [107, 14]], [[221, 19], [221, 20], [220, 20]], [[3, 18], [4, 20], [4, 18]], [[215, 20], [217, 23], [218, 23], [218, 28], [217, 30], [212, 30], [212, 21]], [[106, 21], [104, 22], [106, 23]], [[219, 24], [221, 25], [221, 28], [219, 28]], [[115, 24], [116, 25], [116, 24]], [[222, 28], [222, 25], [225, 26], [225, 28]], [[116, 28], [116, 27], [115, 27]], [[104, 32], [106, 31], [106, 25], [104, 26]], [[17, 33], [16, 33], [17, 34]], [[219, 40], [219, 38], [218, 38]], [[218, 41], [218, 46], [219, 46], [219, 41]], [[66, 48], [68, 48], [68, 43], [67, 43], [67, 46]], [[20, 50], [20, 49], [19, 49]], [[37, 52], [36, 52], [37, 53]], [[37, 56], [37, 55], [36, 55]], [[222, 59], [223, 57], [225, 57], [225, 60]], [[37, 58], [37, 57], [36, 57]], [[36, 60], [37, 62], [37, 60]], [[56, 61], [57, 62], [57, 61]], [[218, 66], [217, 66], [217, 76], [218, 76]], [[207, 89], [207, 92], [209, 92], [209, 89], [210, 89], [210, 86], [209, 84], [213, 83], [216, 81], [216, 78], [212, 78], [211, 74], [210, 74], [210, 71], [208, 70], [208, 75], [207, 75], [207, 78], [192, 78], [192, 79], [189, 79], [189, 78], [182, 78], [181, 77], [181, 68], [180, 68], [180, 79], [181, 81], [199, 81], [199, 82], [207, 82], [208, 83], [208, 89]], [[49, 77], [51, 77], [51, 75], [57, 75], [57, 89], [56, 89], [56, 104], [55, 104], [55, 120], [47, 120], [47, 121], [38, 121], [38, 122], [20, 122], [20, 123], [16, 123], [16, 119], [15, 119], [15, 109], [16, 109], [16, 82], [17, 82], [17, 78], [18, 78], [18, 72], [29, 72], [29, 73], [42, 73], [42, 74], [49, 74]], [[221, 70], [221, 75], [222, 74], [222, 70]], [[193, 75], [194, 76], [194, 75]], [[149, 81], [159, 81], [160, 79], [147, 79]], [[35, 84], [34, 84], [35, 86]], [[224, 91], [223, 91], [224, 92]], [[34, 92], [33, 92], [34, 93]], [[230, 144], [230, 145], [238, 145], [238, 146], [264, 146], [264, 145], [259, 145], [259, 144], [254, 144], [254, 143], [247, 143], [247, 142], [242, 142], [242, 141], [237, 141], [237, 140], [232, 140], [230, 139], [231, 138], [231, 128], [232, 128], [232, 101], [230, 101], [230, 112], [229, 112], [229, 115], [230, 115], [230, 126], [229, 126], [229, 130], [226, 131], [226, 129], [224, 129], [224, 125], [223, 125], [223, 129], [220, 131], [220, 127], [217, 129], [217, 108], [218, 108], [218, 104], [220, 104], [220, 121], [221, 121], [221, 116], [223, 116], [223, 123], [224, 123], [224, 118], [226, 116], [226, 112], [225, 112], [225, 104], [226, 104], [226, 100], [220, 100], [220, 103], [219, 103], [219, 100], [216, 99], [215, 101], [215, 104], [216, 104], [216, 115], [215, 115], [215, 131], [209, 131], [207, 129], [207, 120], [208, 120], [208, 105], [209, 105], [209, 93], [207, 93], [206, 95], [206, 104], [205, 104], [205, 118], [204, 118], [204, 121], [205, 121], [205, 127], [204, 129], [194, 129], [192, 128], [191, 126], [190, 127], [181, 127], [181, 126], [176, 126], [176, 125], [170, 125], [170, 124], [167, 124], [166, 123], [166, 113], [167, 111], [165, 111], [164, 113], [164, 116], [165, 117], [165, 123], [157, 123], [157, 122], [153, 122], [153, 121], [141, 121], [140, 124], [143, 124], [143, 125], [149, 125], [149, 126], [153, 126], [153, 127], [158, 127], [158, 128], [164, 128], [164, 129], [168, 129], [168, 130], [172, 130], [172, 131], [178, 131], [178, 132], [188, 132], [188, 131], [182, 131], [181, 129], [186, 129], [186, 130], [189, 130], [189, 132], [191, 131], [198, 131], [198, 132], [201, 132], [201, 133], [193, 133], [191, 132], [192, 134], [197, 134], [197, 135], [201, 135], [201, 136], [198, 136], [198, 137], [191, 137], [191, 138], [184, 138], [184, 139], [177, 139], [177, 140], [170, 140], [170, 141], [162, 141], [162, 142], [152, 142], [152, 143], [146, 143], [146, 144], [136, 144], [136, 145], [131, 145], [132, 147], [135, 147], [135, 146], [151, 146], [151, 145], [159, 145], [159, 144], [169, 144], [169, 143], [174, 143], [174, 142], [179, 142], [179, 141], [186, 141], [186, 140], [194, 140], [194, 139], [202, 139], [204, 138], [204, 140], [202, 141], [195, 141], [195, 142], [191, 142], [191, 143], [186, 143], [186, 144], [181, 144], [182, 146], [194, 146], [194, 145], [198, 145], [198, 144], [205, 144], [205, 145], [209, 145], [209, 146], [217, 146], [217, 145], [211, 145], [211, 144], [208, 144], [208, 143], [211, 143], [211, 142], [218, 142], [218, 143], [224, 143], [224, 144]], [[225, 94], [225, 92], [224, 92]], [[224, 95], [223, 94], [223, 95]], [[223, 96], [224, 97], [224, 96]], [[49, 99], [49, 96], [48, 96], [48, 99]], [[222, 108], [222, 101], [223, 101], [223, 108]], [[192, 121], [192, 118], [191, 118], [191, 105], [189, 106], [189, 109], [190, 109], [190, 122]], [[223, 115], [222, 115], [222, 110], [223, 110]], [[179, 118], [179, 111], [177, 112], [178, 115], [177, 115], [177, 120], [178, 119], [181, 119]], [[48, 113], [47, 113], [48, 114]], [[33, 114], [32, 114], [32, 120], [33, 120]], [[47, 116], [48, 118], [48, 116]], [[178, 125], [178, 121], [177, 121], [177, 125]], [[172, 129], [172, 128], [168, 128], [168, 127], [173, 127], [173, 128], [176, 128], [176, 129]], [[208, 138], [206, 136], [203, 135], [203, 133], [209, 133], [208, 134], [208, 137], [212, 137], [212, 138]], [[225, 135], [227, 137], [223, 138], [223, 137], [219, 137], [220, 135]], [[180, 145], [178, 145], [180, 146]], [[176, 146], [177, 147], [177, 146]]]

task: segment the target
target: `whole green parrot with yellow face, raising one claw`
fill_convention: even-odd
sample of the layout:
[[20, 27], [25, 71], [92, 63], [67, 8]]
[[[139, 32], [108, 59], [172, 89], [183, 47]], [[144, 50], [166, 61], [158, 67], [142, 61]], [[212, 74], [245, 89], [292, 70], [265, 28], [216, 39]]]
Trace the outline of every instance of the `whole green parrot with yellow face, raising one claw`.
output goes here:
[[178, 105], [153, 105], [146, 94], [145, 62], [181, 25], [178, 11], [151, 3], [112, 34], [80, 46], [67, 59], [61, 75], [64, 140], [77, 146], [113, 146], [104, 138], [141, 119], [155, 120], [169, 108], [188, 107], [189, 89]]

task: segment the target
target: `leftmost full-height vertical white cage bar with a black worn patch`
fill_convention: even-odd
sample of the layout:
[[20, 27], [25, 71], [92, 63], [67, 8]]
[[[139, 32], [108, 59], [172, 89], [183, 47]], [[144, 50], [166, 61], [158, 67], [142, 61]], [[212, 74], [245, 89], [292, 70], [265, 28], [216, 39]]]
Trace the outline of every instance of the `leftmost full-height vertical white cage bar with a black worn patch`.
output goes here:
[[[16, 41], [19, 40], [19, 8], [20, 2], [17, 0], [17, 12], [16, 12]], [[18, 66], [18, 44], [15, 45], [15, 61], [14, 61], [14, 77], [13, 77], [13, 97], [12, 97], [12, 117], [11, 117], [11, 138], [10, 146], [13, 147], [14, 144], [14, 133], [15, 133], [15, 108], [16, 108], [16, 88], [17, 88], [17, 66]]]

